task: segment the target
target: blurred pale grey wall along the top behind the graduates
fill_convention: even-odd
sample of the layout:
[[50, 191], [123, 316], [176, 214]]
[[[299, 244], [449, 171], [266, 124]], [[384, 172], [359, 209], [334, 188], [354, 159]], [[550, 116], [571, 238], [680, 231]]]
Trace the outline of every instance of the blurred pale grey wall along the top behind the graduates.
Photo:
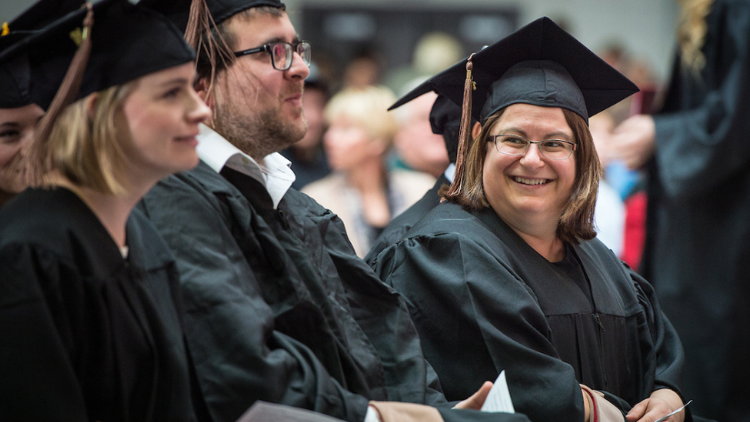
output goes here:
[[[32, 0], [0, 1], [0, 21], [12, 19], [32, 3]], [[459, 12], [496, 8], [515, 13], [516, 27], [547, 15], [556, 22], [565, 22], [569, 32], [595, 51], [612, 42], [621, 43], [628, 52], [651, 65], [661, 81], [668, 75], [675, 43], [673, 0], [285, 0], [285, 4], [303, 36], [305, 26], [300, 11], [305, 7]]]

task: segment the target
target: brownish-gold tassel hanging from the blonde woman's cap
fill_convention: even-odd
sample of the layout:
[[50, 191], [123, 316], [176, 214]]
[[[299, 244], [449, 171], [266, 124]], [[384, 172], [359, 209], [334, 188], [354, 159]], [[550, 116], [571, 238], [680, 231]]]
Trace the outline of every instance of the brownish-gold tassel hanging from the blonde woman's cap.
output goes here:
[[29, 146], [24, 163], [25, 182], [29, 186], [42, 186], [46, 183], [46, 176], [52, 171], [52, 156], [49, 154], [49, 135], [55, 120], [66, 106], [75, 101], [81, 82], [84, 79], [88, 57], [91, 55], [91, 28], [94, 25], [94, 9], [86, 2], [87, 9], [84, 18], [84, 30], [81, 33], [81, 43], [75, 51], [73, 60], [68, 65], [67, 72], [60, 87], [57, 89], [52, 104], [44, 117], [39, 121], [34, 133], [34, 141]]

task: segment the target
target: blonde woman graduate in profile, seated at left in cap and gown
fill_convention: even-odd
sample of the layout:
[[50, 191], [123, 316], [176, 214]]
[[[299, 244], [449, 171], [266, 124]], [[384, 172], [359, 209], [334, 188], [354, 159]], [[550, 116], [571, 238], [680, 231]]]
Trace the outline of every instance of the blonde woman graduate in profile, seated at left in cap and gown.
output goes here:
[[209, 110], [194, 57], [164, 16], [125, 0], [3, 52], [28, 59], [32, 103], [59, 93], [23, 167], [33, 187], [0, 209], [0, 418], [195, 419], [175, 262], [133, 210], [198, 163]]

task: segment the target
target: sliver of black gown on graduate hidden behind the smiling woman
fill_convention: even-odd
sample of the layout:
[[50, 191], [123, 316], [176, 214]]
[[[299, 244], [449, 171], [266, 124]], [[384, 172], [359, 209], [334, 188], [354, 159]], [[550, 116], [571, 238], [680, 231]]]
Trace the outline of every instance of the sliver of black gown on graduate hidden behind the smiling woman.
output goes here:
[[440, 204], [440, 195], [438, 195], [438, 192], [440, 192], [440, 188], [443, 185], [450, 184], [451, 182], [445, 175], [440, 175], [435, 182], [435, 186], [428, 190], [425, 196], [422, 196], [414, 205], [409, 206], [403, 213], [395, 216], [388, 223], [388, 226], [385, 227], [383, 233], [375, 240], [375, 244], [373, 244], [373, 247], [367, 253], [367, 256], [365, 256], [365, 262], [368, 265], [372, 265], [375, 258], [383, 252], [383, 249], [398, 242], [401, 236], [404, 236], [420, 218]]

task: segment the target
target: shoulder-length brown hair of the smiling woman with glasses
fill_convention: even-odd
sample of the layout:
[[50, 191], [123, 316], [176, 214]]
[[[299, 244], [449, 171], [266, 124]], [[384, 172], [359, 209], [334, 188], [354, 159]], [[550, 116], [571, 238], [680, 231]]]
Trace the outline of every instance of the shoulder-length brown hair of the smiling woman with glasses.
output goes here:
[[[464, 186], [457, 193], [457, 196], [446, 198], [447, 200], [475, 210], [490, 206], [485, 196], [482, 170], [485, 166], [487, 148], [490, 147], [488, 136], [500, 116], [503, 116], [504, 111], [505, 108], [487, 118], [479, 136], [476, 136], [468, 147]], [[594, 209], [599, 179], [604, 170], [599, 162], [599, 156], [596, 155], [594, 140], [584, 118], [565, 108], [563, 114], [565, 115], [565, 121], [573, 131], [577, 146], [575, 148], [576, 166], [573, 193], [563, 208], [562, 216], [560, 216], [557, 236], [561, 240], [575, 245], [581, 240], [589, 240], [596, 236]]]

